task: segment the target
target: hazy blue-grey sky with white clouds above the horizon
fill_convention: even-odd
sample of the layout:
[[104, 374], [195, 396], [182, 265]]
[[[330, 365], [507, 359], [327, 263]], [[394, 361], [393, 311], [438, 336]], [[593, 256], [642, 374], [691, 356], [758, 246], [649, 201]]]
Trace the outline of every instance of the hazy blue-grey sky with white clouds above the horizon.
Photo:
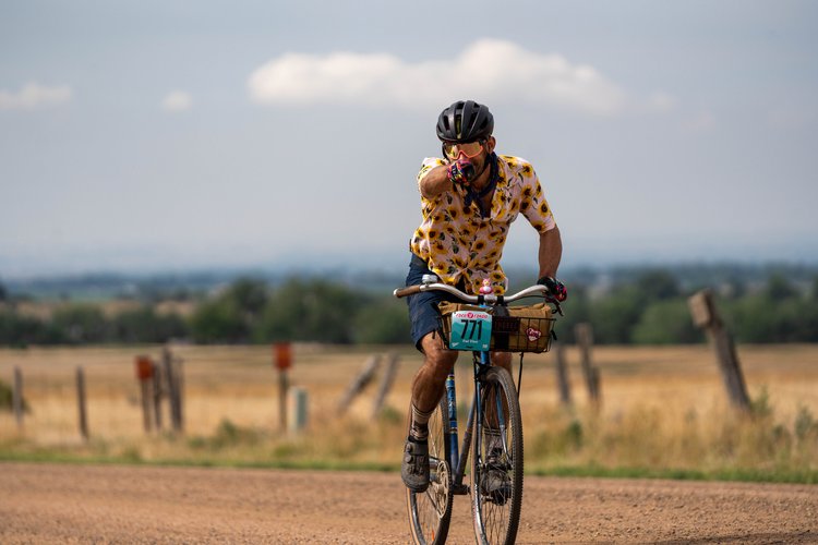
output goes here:
[[565, 265], [815, 262], [817, 46], [808, 1], [7, 1], [0, 277], [404, 267], [459, 98]]

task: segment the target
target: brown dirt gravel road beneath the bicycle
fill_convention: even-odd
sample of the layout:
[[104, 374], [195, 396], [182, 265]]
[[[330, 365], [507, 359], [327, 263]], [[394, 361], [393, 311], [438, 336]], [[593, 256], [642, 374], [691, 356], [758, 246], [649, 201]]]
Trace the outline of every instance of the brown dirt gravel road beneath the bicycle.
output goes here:
[[[3, 544], [408, 542], [397, 474], [0, 463]], [[518, 543], [599, 542], [818, 543], [818, 486], [526, 479]]]

